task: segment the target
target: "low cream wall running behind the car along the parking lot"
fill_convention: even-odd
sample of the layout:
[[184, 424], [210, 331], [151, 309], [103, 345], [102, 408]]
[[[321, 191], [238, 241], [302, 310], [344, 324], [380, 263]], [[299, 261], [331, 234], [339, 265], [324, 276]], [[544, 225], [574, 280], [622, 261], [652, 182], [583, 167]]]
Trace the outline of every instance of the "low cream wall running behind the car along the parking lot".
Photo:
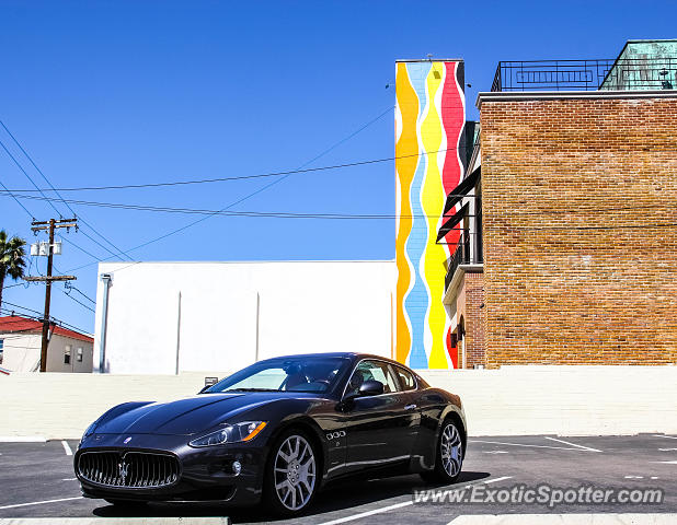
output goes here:
[[[420, 372], [431, 384], [461, 396], [475, 436], [677, 433], [677, 366]], [[206, 375], [211, 374], [225, 375]], [[78, 439], [112, 406], [188, 396], [202, 388], [204, 375], [0, 375], [0, 438]]]

